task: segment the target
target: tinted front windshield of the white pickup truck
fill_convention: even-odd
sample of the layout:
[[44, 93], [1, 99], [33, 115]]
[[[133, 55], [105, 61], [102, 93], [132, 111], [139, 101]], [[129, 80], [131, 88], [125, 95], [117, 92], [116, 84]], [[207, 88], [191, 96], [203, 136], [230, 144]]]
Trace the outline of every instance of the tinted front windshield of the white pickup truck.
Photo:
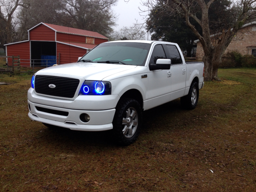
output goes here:
[[150, 45], [136, 42], [103, 43], [84, 55], [78, 62], [144, 66]]

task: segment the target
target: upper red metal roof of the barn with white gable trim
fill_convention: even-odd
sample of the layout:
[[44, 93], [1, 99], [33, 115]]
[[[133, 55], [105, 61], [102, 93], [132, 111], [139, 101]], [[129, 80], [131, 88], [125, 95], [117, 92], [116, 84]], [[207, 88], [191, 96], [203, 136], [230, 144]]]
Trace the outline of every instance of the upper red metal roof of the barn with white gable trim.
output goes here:
[[[76, 29], [76, 28], [71, 28], [71, 27], [64, 27], [60, 25], [54, 25], [54, 24], [48, 24], [48, 23], [39, 23], [38, 25], [43, 24], [52, 30], [60, 33], [67, 33], [67, 34], [74, 34], [74, 35], [81, 35], [81, 36], [87, 36], [87, 37], [95, 37], [95, 38], [100, 38], [100, 39], [108, 39], [107, 37], [99, 34], [98, 32], [93, 32], [93, 31], [87, 31], [87, 30], [82, 30], [82, 29]], [[33, 28], [36, 28], [38, 25], [32, 27], [28, 31], [32, 30]]]

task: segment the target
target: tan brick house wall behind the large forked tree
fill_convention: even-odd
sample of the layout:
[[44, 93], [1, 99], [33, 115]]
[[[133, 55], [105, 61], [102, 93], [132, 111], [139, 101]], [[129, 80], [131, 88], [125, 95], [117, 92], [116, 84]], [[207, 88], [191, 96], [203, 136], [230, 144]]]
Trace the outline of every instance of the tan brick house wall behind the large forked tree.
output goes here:
[[[202, 60], [204, 56], [202, 44], [199, 40], [195, 40], [194, 43], [197, 44], [196, 58]], [[232, 51], [238, 51], [242, 55], [253, 55], [256, 57], [256, 21], [245, 24], [240, 28], [224, 54]]]

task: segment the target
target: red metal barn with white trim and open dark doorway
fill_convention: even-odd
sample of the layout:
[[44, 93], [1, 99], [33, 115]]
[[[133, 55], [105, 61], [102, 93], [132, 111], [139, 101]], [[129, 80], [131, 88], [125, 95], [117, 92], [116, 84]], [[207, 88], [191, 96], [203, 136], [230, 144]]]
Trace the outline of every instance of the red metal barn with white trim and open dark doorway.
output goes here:
[[21, 66], [40, 66], [49, 58], [57, 64], [76, 62], [78, 57], [107, 41], [97, 32], [40, 23], [28, 30], [28, 40], [5, 46], [6, 56], [19, 55]]

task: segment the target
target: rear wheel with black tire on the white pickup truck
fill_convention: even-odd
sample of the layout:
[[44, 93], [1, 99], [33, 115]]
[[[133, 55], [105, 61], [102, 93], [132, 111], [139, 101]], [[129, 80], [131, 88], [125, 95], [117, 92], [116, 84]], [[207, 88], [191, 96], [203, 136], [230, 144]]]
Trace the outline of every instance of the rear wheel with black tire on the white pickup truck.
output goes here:
[[198, 103], [198, 98], [199, 98], [198, 83], [194, 81], [192, 82], [189, 88], [188, 95], [180, 98], [180, 103], [183, 108], [191, 110], [196, 108], [196, 105]]

